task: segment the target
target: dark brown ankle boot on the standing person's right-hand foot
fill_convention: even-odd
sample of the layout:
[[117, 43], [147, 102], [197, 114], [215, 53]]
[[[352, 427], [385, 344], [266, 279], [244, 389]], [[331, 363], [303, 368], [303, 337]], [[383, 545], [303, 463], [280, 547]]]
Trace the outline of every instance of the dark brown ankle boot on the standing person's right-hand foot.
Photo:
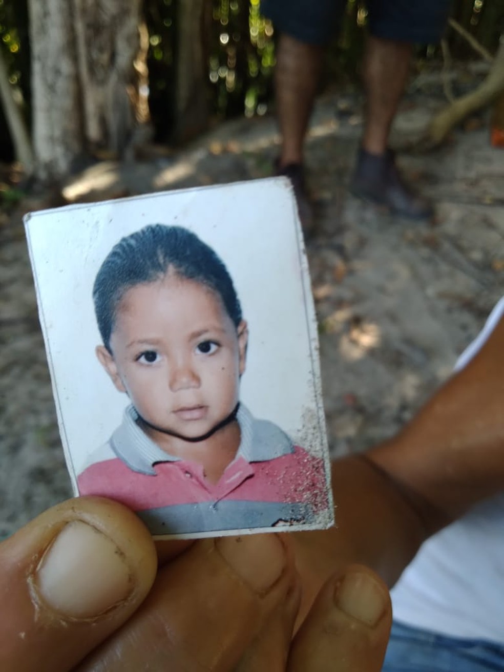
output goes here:
[[434, 214], [432, 204], [401, 177], [391, 149], [375, 155], [361, 148], [349, 188], [354, 196], [386, 206], [390, 213], [401, 217], [420, 220]]

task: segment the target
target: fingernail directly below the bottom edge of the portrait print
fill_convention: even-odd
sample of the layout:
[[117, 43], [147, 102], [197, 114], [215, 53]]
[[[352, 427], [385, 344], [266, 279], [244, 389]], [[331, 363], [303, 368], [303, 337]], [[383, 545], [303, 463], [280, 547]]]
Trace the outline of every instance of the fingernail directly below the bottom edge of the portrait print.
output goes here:
[[216, 549], [257, 593], [268, 591], [287, 563], [286, 549], [277, 534], [222, 537], [216, 541]]

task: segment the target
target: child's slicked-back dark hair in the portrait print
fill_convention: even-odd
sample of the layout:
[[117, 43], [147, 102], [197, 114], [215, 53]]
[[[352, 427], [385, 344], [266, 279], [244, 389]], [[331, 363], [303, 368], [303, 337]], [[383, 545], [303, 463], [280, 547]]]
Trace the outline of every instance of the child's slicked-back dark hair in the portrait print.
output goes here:
[[200, 282], [218, 294], [238, 327], [242, 319], [239, 298], [218, 255], [187, 228], [150, 224], [114, 245], [95, 279], [96, 319], [108, 351], [116, 310], [124, 294], [135, 285], [163, 278], [168, 271]]

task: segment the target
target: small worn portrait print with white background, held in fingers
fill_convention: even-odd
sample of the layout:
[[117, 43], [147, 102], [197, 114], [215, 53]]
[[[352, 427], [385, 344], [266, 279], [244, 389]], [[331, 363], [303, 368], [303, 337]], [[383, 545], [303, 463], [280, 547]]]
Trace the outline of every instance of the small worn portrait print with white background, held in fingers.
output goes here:
[[156, 538], [333, 523], [292, 187], [264, 179], [25, 218], [75, 495]]

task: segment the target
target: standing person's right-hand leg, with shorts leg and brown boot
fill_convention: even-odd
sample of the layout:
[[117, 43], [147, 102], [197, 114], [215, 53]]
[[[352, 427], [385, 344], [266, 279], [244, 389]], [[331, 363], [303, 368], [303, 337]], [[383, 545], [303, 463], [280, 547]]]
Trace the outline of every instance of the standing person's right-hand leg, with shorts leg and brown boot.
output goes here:
[[423, 219], [433, 209], [403, 181], [388, 149], [388, 136], [407, 84], [413, 44], [437, 42], [450, 0], [372, 0], [364, 58], [364, 134], [351, 191], [393, 214]]

